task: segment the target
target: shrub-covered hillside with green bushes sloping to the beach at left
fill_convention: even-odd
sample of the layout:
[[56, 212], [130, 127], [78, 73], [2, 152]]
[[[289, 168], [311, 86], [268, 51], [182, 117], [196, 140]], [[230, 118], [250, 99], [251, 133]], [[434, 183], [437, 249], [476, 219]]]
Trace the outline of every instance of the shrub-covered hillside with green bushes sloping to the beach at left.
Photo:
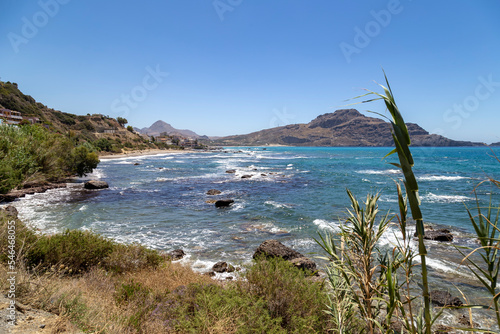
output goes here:
[[37, 124], [0, 126], [0, 194], [83, 176], [97, 167], [100, 152], [167, 148], [124, 128], [124, 118], [57, 111], [23, 94], [16, 83], [0, 81], [0, 108], [39, 119]]

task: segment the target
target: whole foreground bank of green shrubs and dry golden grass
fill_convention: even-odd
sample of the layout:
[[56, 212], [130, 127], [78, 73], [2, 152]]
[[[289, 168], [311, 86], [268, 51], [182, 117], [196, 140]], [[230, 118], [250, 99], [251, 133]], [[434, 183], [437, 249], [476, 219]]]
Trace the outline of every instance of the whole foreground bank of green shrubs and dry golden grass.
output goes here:
[[[157, 251], [91, 232], [38, 235], [0, 210], [0, 254], [15, 220], [16, 298], [68, 317], [86, 332], [326, 333], [328, 297], [282, 259], [258, 260], [246, 280], [221, 284], [171, 263]], [[22, 245], [22, 247], [19, 247]], [[0, 287], [7, 255], [0, 258]]]

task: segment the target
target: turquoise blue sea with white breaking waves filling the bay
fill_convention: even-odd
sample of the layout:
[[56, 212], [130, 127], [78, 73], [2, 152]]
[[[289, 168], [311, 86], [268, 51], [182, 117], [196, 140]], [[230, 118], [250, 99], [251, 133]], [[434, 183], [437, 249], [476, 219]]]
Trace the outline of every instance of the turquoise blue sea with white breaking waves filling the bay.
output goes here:
[[[183, 261], [203, 271], [219, 260], [246, 263], [271, 238], [318, 253], [313, 238], [337, 229], [349, 206], [346, 188], [359, 200], [380, 192], [382, 213], [397, 210], [395, 181], [402, 175], [388, 164], [395, 156], [382, 160], [390, 150], [245, 147], [103, 160], [87, 179], [107, 181], [109, 189], [86, 191], [73, 184], [14, 205], [41, 232], [90, 229], [120, 242], [182, 248], [188, 253]], [[424, 220], [451, 227], [455, 244], [473, 244], [464, 204], [475, 204], [472, 190], [480, 181], [500, 178], [500, 163], [488, 148], [414, 148], [413, 154]], [[208, 196], [209, 189], [222, 194]], [[235, 203], [229, 209], [206, 203], [216, 198]], [[391, 229], [383, 243], [396, 238]], [[452, 253], [450, 246], [429, 247], [436, 273], [456, 271], [452, 257], [443, 255]]]

